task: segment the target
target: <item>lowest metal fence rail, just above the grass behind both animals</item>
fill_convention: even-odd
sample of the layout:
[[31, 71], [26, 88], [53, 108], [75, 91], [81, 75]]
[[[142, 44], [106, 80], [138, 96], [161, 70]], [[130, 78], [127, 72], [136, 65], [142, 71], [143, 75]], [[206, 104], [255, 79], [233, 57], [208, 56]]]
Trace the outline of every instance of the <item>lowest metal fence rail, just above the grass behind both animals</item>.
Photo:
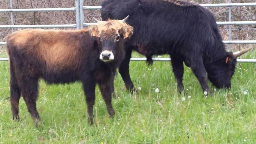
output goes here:
[[[146, 61], [147, 58], [131, 58], [130, 61]], [[170, 58], [152, 58], [153, 61], [171, 61]], [[8, 58], [0, 58], [0, 61], [8, 61]], [[239, 63], [256, 63], [256, 59], [237, 59]]]

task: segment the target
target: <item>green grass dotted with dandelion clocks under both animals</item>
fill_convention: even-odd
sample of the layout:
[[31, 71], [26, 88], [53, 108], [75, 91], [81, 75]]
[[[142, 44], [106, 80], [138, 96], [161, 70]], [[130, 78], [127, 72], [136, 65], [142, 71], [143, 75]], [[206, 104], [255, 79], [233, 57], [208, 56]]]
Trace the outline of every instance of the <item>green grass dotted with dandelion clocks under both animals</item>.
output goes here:
[[[255, 56], [250, 53], [243, 58]], [[128, 93], [120, 74], [116, 76], [118, 98], [112, 101], [116, 112], [113, 120], [96, 88], [97, 125], [93, 126], [87, 122], [80, 82], [46, 85], [40, 81], [37, 108], [43, 126], [36, 128], [23, 99], [19, 104], [20, 121], [11, 119], [9, 64], [1, 61], [0, 143], [256, 143], [255, 63], [237, 64], [232, 89], [217, 89], [214, 97], [208, 98], [188, 67], [183, 81], [186, 95], [177, 92], [170, 62], [154, 62], [148, 67], [145, 62], [132, 61], [130, 74], [141, 91]], [[155, 93], [157, 87], [159, 93]], [[211, 88], [214, 90], [214, 86]]]

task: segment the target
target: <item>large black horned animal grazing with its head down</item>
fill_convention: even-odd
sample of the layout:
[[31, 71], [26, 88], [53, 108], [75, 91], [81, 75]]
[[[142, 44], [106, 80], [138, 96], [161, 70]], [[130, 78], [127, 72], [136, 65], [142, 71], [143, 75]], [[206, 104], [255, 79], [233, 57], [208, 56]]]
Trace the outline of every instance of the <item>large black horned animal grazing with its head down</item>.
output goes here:
[[236, 58], [249, 49], [235, 53], [225, 50], [214, 15], [202, 6], [184, 1], [104, 0], [102, 19], [129, 15], [134, 35], [126, 43], [126, 57], [119, 67], [127, 89], [134, 87], [129, 75], [129, 59], [136, 50], [152, 64], [153, 55], [169, 54], [178, 90], [184, 88], [183, 62], [191, 67], [202, 90], [210, 92], [208, 79], [217, 88], [230, 88]]

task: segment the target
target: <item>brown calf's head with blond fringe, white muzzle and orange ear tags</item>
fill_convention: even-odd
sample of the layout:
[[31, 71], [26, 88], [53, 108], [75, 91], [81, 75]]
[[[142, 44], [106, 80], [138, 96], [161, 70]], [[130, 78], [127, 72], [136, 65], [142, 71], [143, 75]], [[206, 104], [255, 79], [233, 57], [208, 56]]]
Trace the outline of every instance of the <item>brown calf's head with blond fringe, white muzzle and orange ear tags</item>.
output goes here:
[[92, 36], [99, 37], [98, 41], [102, 45], [102, 52], [99, 55], [99, 59], [102, 61], [114, 61], [118, 55], [124, 57], [124, 42], [133, 33], [133, 27], [125, 23], [128, 17], [122, 20], [109, 19], [108, 21], [99, 21], [93, 18], [98, 25], [91, 26], [91, 34]]

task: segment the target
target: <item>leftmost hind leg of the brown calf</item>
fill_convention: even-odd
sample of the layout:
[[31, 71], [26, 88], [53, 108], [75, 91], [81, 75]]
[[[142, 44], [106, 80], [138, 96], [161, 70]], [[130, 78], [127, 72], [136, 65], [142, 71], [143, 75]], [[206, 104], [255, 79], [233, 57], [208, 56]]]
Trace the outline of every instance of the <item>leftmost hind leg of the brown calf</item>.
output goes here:
[[19, 99], [20, 88], [17, 84], [12, 58], [10, 58], [10, 103], [13, 120], [19, 119]]

